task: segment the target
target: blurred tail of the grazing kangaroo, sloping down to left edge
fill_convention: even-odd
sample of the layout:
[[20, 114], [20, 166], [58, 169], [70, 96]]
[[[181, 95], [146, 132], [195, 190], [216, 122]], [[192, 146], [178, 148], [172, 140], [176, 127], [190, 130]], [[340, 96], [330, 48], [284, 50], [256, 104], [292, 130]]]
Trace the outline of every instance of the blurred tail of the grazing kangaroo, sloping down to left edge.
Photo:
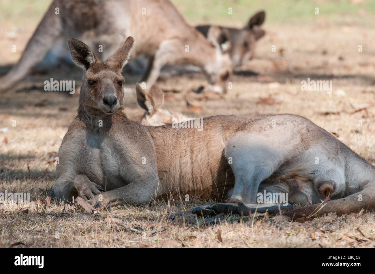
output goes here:
[[55, 14], [55, 2], [53, 1], [49, 6], [18, 63], [0, 78], [0, 90], [7, 90], [22, 79], [34, 65], [43, 59], [55, 39], [62, 33], [62, 15]]

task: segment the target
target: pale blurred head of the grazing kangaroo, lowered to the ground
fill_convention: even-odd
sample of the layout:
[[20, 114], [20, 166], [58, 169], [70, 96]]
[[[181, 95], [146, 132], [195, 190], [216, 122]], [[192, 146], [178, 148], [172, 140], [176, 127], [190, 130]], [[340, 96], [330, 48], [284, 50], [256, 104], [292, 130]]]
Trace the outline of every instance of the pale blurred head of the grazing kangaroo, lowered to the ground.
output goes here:
[[229, 56], [231, 49], [228, 30], [211, 26], [207, 32], [207, 39], [211, 46], [215, 47], [216, 56], [213, 61], [204, 66], [204, 73], [208, 80], [208, 90], [225, 93], [228, 87], [228, 79], [232, 74], [232, 60]]

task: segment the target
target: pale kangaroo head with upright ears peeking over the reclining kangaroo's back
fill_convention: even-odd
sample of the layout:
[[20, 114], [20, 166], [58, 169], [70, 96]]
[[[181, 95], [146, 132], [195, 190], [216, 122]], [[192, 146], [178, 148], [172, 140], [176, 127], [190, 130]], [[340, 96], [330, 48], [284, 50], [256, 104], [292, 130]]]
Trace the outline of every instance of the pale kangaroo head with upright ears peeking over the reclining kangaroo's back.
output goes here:
[[163, 107], [164, 93], [160, 87], [152, 85], [150, 92], [142, 89], [137, 83], [135, 85], [138, 105], [145, 110], [140, 123], [145, 126], [161, 126], [172, 123], [172, 118], [181, 113], [172, 113]]

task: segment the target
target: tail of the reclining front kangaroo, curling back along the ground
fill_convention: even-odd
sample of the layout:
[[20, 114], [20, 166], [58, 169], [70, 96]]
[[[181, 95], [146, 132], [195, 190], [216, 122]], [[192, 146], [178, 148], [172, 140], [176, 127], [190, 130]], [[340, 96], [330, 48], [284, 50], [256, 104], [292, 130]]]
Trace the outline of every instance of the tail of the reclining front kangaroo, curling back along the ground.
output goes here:
[[283, 216], [296, 219], [331, 212], [341, 216], [360, 212], [362, 209], [365, 211], [375, 210], [375, 168], [354, 152], [353, 154], [354, 157], [347, 159], [346, 178], [353, 185], [359, 185], [361, 191], [338, 200], [328, 201], [325, 204], [300, 207], [284, 213]]

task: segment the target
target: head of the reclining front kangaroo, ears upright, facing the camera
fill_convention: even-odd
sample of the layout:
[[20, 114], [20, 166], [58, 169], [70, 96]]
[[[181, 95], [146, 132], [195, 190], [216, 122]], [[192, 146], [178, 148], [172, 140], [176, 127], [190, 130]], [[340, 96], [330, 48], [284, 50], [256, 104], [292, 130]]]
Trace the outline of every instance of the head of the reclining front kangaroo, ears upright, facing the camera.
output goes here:
[[86, 110], [91, 108], [111, 115], [122, 107], [124, 77], [121, 71], [129, 60], [133, 43], [133, 37], [127, 37], [113, 55], [101, 61], [85, 43], [75, 38], [69, 39], [69, 51], [74, 63], [85, 70], [80, 105]]

